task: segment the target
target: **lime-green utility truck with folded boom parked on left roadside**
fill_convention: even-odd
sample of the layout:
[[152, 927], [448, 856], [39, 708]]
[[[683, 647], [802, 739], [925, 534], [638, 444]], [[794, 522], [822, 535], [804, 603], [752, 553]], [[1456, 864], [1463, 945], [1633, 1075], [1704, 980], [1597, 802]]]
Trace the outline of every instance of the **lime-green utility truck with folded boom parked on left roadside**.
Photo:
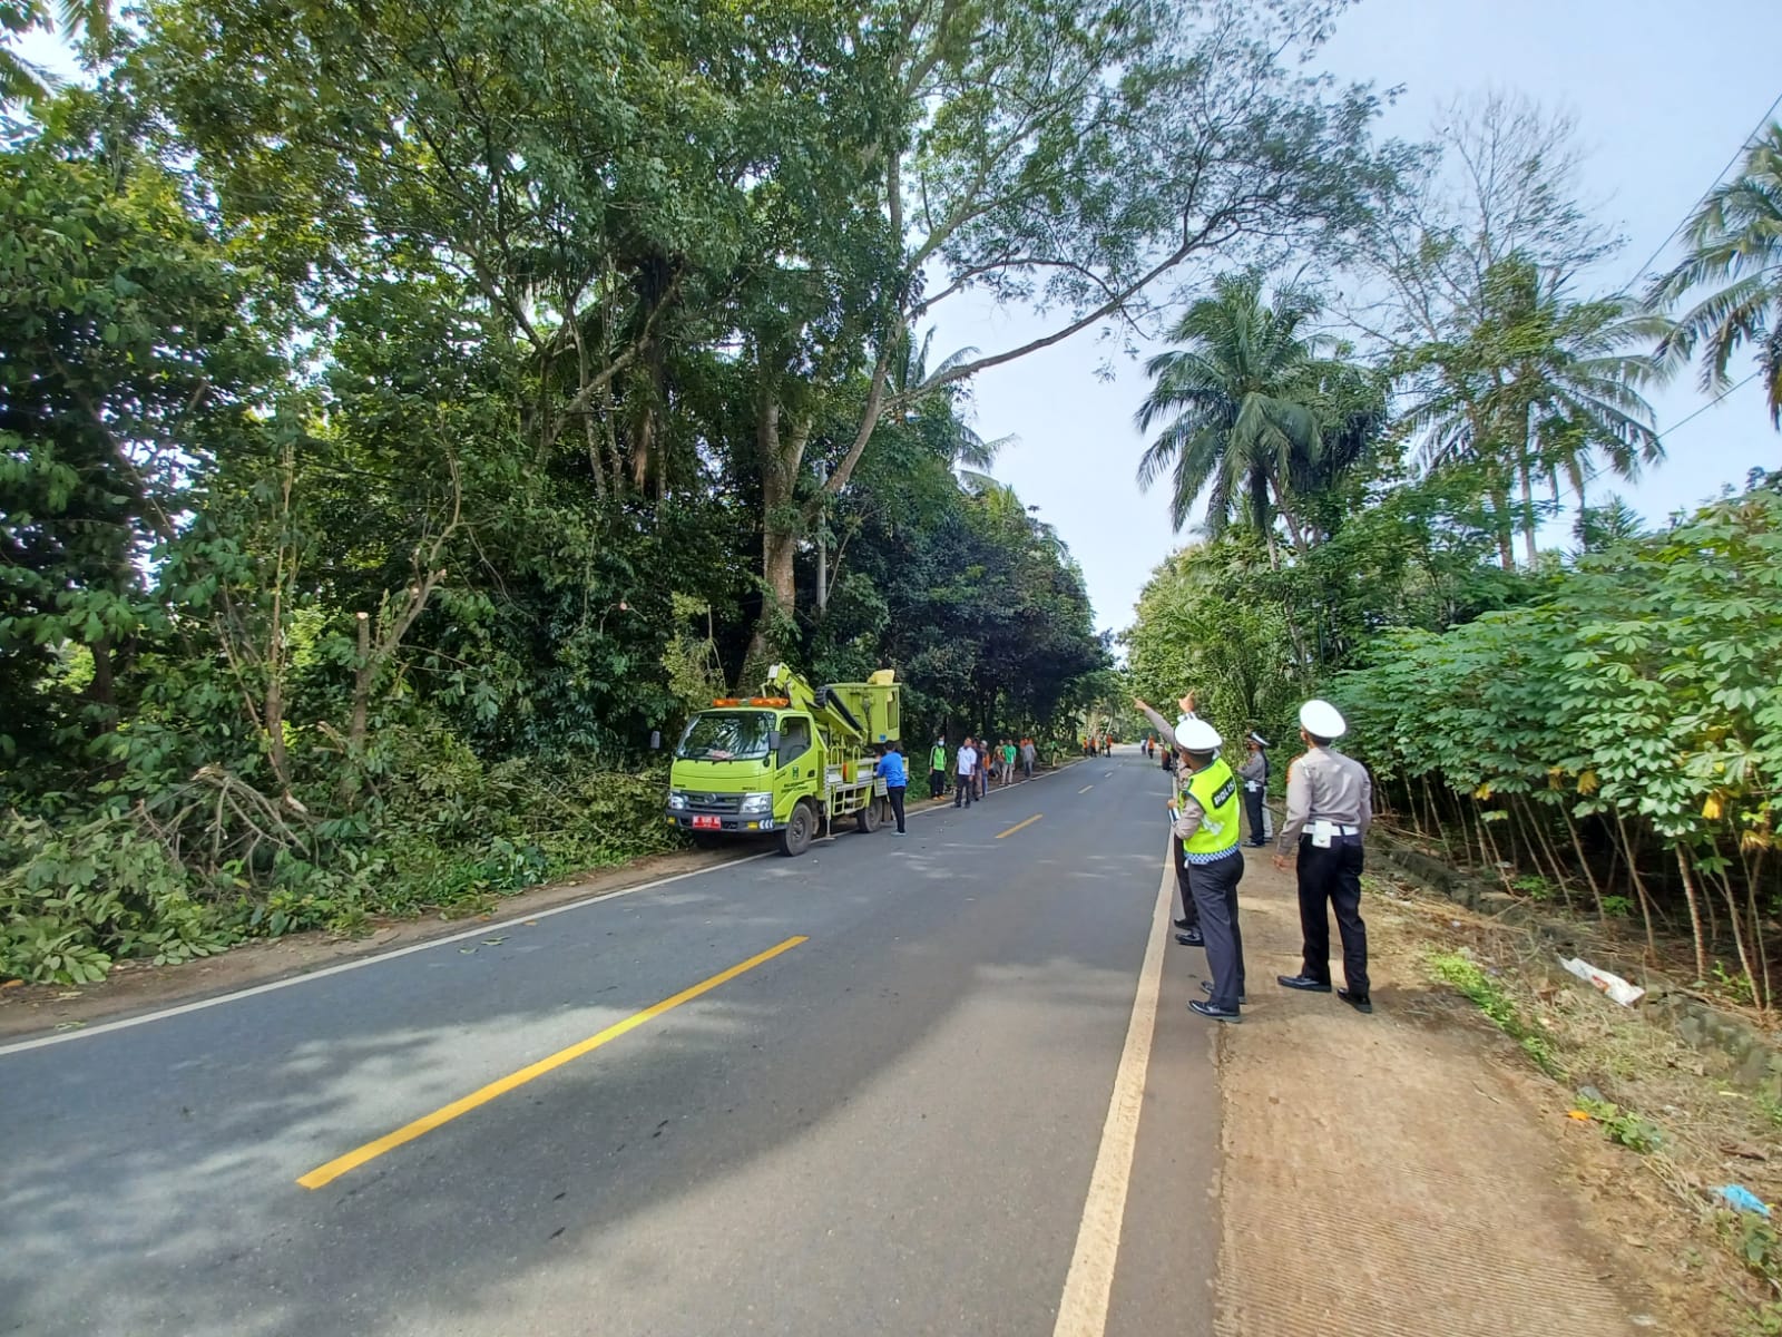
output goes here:
[[668, 820], [700, 841], [773, 833], [791, 856], [848, 816], [877, 831], [889, 802], [875, 747], [900, 736], [900, 692], [889, 668], [813, 688], [773, 665], [761, 695], [713, 701], [688, 722]]

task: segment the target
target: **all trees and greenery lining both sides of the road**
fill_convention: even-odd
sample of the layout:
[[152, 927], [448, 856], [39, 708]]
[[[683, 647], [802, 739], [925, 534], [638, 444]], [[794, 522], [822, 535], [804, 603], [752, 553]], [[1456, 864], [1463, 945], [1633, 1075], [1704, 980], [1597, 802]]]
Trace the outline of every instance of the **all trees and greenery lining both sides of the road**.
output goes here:
[[[1142, 476], [1212, 506], [1133, 685], [1276, 734], [1329, 685], [1408, 822], [1766, 998], [1773, 488], [1666, 537], [1584, 494], [1661, 458], [1654, 376], [1775, 380], [1773, 135], [1647, 303], [1590, 294], [1570, 127], [1379, 143], [1338, 11], [64, 5], [82, 87], [0, 45], [0, 973], [661, 849], [654, 743], [775, 658], [893, 665], [918, 736], [1119, 718], [969, 385], [1155, 321]], [[968, 292], [1041, 333], [934, 349]]]

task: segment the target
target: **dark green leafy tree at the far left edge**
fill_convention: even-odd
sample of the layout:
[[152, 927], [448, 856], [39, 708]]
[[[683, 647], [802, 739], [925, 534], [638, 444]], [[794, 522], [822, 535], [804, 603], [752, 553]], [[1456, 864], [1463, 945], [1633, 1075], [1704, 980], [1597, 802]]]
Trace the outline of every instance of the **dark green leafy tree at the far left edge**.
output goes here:
[[148, 565], [194, 469], [258, 433], [278, 374], [257, 276], [175, 173], [91, 146], [91, 111], [0, 155], [0, 752], [82, 761], [175, 631]]

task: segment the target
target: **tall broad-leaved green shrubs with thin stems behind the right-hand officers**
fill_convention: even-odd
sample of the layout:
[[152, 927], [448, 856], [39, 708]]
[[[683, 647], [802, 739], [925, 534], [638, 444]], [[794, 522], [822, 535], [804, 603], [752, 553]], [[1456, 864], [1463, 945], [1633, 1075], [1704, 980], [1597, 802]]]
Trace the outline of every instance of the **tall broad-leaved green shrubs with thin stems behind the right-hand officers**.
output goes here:
[[1516, 868], [1686, 916], [1698, 979], [1773, 1004], [1782, 906], [1782, 476], [1557, 576], [1540, 603], [1402, 631], [1331, 695], [1390, 806]]

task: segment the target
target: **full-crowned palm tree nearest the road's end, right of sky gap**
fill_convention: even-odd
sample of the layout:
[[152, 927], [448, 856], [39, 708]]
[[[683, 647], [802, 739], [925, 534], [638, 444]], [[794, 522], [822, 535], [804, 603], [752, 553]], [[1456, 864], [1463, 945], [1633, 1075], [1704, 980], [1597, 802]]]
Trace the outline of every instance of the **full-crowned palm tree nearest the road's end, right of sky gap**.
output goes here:
[[1206, 494], [1208, 533], [1242, 513], [1278, 565], [1279, 515], [1304, 551], [1294, 483], [1312, 481], [1328, 440], [1353, 426], [1338, 422], [1331, 406], [1354, 369], [1319, 357], [1324, 340], [1301, 335], [1317, 312], [1299, 289], [1278, 289], [1263, 305], [1262, 275], [1224, 275], [1214, 280], [1214, 296], [1171, 330], [1183, 348], [1146, 364], [1153, 385], [1139, 406], [1139, 430], [1167, 421], [1139, 460], [1139, 485], [1149, 488], [1174, 467], [1169, 515], [1178, 529]]

